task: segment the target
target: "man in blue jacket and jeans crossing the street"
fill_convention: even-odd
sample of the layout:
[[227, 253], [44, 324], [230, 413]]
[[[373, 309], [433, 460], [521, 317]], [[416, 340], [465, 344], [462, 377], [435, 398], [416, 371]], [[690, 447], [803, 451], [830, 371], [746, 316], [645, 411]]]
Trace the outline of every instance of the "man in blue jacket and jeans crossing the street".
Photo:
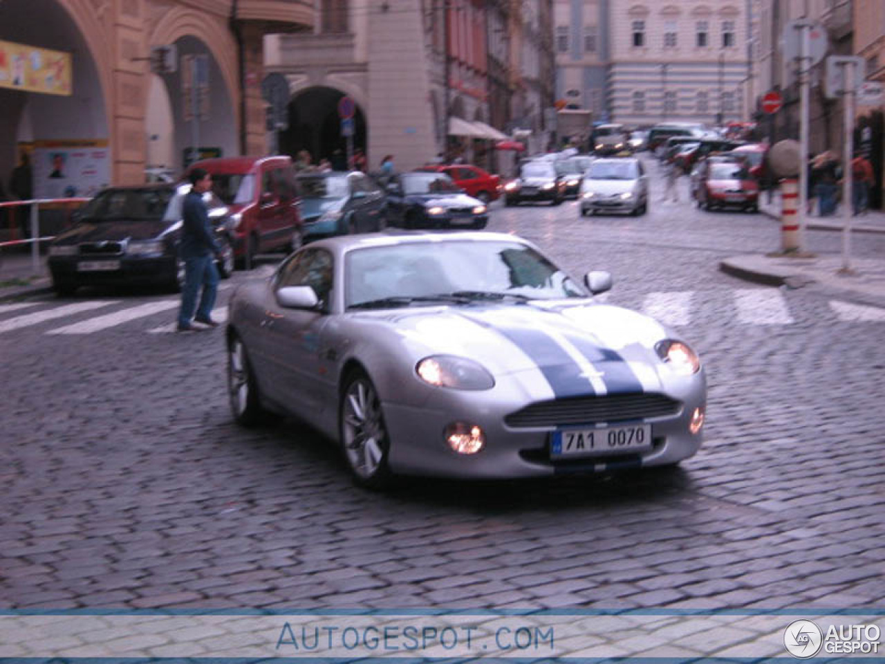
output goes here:
[[[212, 188], [212, 175], [202, 168], [195, 168], [189, 174], [192, 185], [181, 205], [181, 259], [184, 261], [184, 287], [181, 289], [181, 309], [178, 313], [178, 331], [196, 330], [191, 318], [212, 328], [218, 323], [212, 320], [212, 307], [218, 293], [219, 273], [215, 267], [215, 257], [219, 255], [218, 245], [212, 234], [209, 211], [203, 195]], [[203, 286], [200, 305], [196, 309], [196, 293]]]

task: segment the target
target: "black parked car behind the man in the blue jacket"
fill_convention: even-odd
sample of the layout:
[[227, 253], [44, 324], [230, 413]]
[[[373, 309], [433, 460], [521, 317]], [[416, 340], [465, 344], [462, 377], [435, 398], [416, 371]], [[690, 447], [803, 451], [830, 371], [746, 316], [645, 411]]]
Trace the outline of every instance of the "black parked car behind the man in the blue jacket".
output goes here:
[[[104, 189], [82, 207], [73, 228], [49, 248], [52, 287], [67, 295], [79, 286], [158, 283], [173, 290], [184, 282], [178, 256], [181, 204], [189, 184]], [[211, 192], [204, 194], [221, 248], [219, 274], [234, 270], [230, 211]]]

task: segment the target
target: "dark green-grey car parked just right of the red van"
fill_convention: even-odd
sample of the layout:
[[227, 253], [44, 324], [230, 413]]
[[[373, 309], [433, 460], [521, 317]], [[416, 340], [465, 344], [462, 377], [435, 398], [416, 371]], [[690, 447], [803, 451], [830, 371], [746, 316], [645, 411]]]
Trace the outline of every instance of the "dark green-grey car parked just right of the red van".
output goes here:
[[365, 173], [301, 174], [297, 186], [305, 243], [332, 235], [371, 233], [387, 225], [384, 191]]

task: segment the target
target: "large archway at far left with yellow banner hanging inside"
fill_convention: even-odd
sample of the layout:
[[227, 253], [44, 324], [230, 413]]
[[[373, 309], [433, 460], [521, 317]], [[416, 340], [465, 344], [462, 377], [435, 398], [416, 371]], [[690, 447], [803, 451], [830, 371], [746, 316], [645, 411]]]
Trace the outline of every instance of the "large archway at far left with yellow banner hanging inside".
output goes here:
[[[94, 16], [79, 20], [96, 22]], [[98, 31], [97, 24], [92, 27]], [[69, 96], [0, 88], [0, 179], [9, 181], [21, 145], [32, 151], [37, 197], [91, 195], [109, 184], [113, 164], [102, 84], [106, 72], [96, 66], [96, 58], [101, 61], [108, 54], [93, 51], [105, 45], [90, 43], [73, 10], [69, 12], [57, 0], [4, 0], [0, 3], [0, 40], [70, 54], [72, 84]], [[4, 52], [3, 57], [15, 56]], [[52, 75], [52, 59], [45, 51], [28, 52], [27, 66], [34, 70], [35, 79]], [[96, 150], [84, 155], [83, 147]], [[50, 179], [53, 160], [65, 164], [64, 178]]]

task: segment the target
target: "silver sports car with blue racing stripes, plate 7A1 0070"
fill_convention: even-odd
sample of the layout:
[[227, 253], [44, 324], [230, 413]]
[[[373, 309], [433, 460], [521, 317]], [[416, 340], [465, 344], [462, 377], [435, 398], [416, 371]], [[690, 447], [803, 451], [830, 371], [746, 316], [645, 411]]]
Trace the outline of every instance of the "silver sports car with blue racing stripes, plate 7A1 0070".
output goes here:
[[295, 415], [366, 486], [676, 464], [701, 444], [704, 369], [655, 320], [594, 301], [611, 286], [512, 235], [312, 243], [231, 299], [235, 419]]

